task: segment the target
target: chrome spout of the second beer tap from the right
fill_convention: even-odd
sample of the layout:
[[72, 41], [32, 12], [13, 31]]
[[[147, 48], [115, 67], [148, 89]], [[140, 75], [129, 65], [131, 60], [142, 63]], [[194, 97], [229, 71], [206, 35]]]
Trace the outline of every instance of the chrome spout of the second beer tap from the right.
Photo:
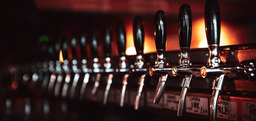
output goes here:
[[190, 89], [192, 79], [194, 77], [195, 77], [194, 74], [191, 74], [191, 75], [187, 75], [185, 78], [182, 79], [182, 83], [181, 83], [182, 91], [180, 94], [179, 108], [178, 108], [177, 116], [182, 116], [182, 114], [183, 114], [188, 89]]

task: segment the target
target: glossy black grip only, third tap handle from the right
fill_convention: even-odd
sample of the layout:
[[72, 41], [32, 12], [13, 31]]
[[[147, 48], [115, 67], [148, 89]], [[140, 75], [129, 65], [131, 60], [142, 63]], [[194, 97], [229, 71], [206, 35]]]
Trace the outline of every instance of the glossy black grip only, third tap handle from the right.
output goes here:
[[162, 10], [159, 10], [156, 12], [154, 29], [155, 29], [156, 50], [165, 50], [166, 49], [166, 22], [165, 22], [165, 13]]

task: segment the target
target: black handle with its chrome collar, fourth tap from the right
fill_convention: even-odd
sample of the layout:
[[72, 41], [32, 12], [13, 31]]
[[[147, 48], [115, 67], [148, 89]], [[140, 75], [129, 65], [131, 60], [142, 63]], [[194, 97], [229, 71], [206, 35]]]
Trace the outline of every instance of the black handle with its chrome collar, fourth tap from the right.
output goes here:
[[143, 50], [144, 50], [144, 26], [140, 16], [136, 16], [133, 20], [133, 42], [136, 49], [136, 62], [137, 68], [142, 68], [144, 65]]

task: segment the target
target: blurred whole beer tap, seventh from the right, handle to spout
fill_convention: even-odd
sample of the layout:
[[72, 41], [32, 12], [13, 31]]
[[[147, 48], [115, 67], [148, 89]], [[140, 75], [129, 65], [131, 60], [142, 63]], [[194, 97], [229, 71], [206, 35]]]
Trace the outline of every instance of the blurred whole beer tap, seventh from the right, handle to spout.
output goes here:
[[92, 44], [91, 44], [91, 54], [93, 56], [93, 62], [94, 62], [93, 72], [97, 73], [95, 81], [94, 81], [94, 87], [92, 90], [92, 95], [94, 95], [94, 96], [97, 93], [97, 90], [98, 90], [98, 87], [100, 84], [100, 77], [101, 77], [101, 74], [99, 73], [100, 72], [100, 64], [99, 64], [99, 59], [98, 59], [98, 40], [97, 40], [96, 36], [97, 36], [96, 31], [94, 31], [92, 34]]

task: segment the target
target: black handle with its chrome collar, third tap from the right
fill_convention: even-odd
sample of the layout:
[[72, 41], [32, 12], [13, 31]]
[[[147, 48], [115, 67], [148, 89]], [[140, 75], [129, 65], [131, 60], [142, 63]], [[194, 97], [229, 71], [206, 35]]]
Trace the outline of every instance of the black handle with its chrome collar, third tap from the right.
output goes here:
[[166, 49], [166, 21], [165, 21], [165, 12], [159, 10], [156, 12], [155, 15], [155, 22], [154, 22], [154, 29], [155, 29], [155, 44], [156, 44], [156, 53], [157, 53], [157, 60], [156, 66], [164, 67], [165, 60], [164, 57], [165, 49]]

